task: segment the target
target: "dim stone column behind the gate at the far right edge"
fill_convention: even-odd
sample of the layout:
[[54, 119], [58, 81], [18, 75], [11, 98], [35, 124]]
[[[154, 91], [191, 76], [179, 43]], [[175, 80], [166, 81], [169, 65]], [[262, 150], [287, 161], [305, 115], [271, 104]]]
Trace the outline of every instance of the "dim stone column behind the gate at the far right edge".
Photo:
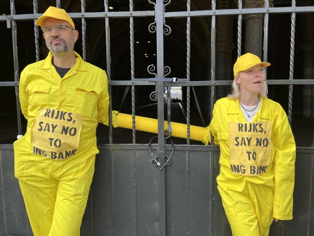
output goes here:
[[[303, 79], [314, 79], [314, 43], [305, 43], [304, 49], [304, 66], [303, 66]], [[303, 107], [302, 116], [305, 118], [314, 117], [314, 85], [303, 85]]]

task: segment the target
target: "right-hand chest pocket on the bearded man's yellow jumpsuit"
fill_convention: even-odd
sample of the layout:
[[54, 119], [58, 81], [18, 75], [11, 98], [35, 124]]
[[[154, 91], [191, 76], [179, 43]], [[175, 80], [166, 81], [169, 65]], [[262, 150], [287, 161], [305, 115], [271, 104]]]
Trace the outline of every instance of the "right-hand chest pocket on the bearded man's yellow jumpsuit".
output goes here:
[[99, 92], [85, 88], [75, 88], [75, 113], [91, 118], [97, 114]]

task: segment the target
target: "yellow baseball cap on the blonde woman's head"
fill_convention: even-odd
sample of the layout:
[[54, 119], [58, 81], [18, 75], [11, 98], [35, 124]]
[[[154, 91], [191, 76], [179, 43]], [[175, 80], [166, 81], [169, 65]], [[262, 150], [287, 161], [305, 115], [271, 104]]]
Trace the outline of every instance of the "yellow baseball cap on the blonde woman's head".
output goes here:
[[236, 76], [240, 71], [248, 70], [258, 64], [262, 64], [264, 67], [270, 66], [269, 62], [262, 62], [258, 56], [252, 53], [245, 53], [236, 60], [233, 66], [233, 74]]

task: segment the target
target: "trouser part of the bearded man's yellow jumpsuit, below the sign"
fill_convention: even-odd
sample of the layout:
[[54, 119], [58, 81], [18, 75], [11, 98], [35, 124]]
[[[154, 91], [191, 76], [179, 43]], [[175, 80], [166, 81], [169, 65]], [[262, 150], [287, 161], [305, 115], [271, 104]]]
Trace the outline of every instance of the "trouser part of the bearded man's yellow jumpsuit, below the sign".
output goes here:
[[50, 160], [15, 155], [16, 177], [35, 236], [79, 236], [95, 155]]

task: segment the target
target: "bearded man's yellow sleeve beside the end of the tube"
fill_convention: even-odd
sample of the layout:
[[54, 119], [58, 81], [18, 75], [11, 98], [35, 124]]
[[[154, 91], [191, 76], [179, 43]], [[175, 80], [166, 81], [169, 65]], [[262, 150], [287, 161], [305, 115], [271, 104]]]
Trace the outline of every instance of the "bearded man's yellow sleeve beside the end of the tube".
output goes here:
[[97, 102], [97, 108], [98, 108], [98, 117], [97, 120], [100, 123], [103, 123], [104, 125], [109, 125], [109, 94], [108, 94], [108, 78], [106, 72], [103, 70], [103, 73], [101, 74], [101, 78], [104, 78], [104, 87], [101, 90], [100, 98]]

